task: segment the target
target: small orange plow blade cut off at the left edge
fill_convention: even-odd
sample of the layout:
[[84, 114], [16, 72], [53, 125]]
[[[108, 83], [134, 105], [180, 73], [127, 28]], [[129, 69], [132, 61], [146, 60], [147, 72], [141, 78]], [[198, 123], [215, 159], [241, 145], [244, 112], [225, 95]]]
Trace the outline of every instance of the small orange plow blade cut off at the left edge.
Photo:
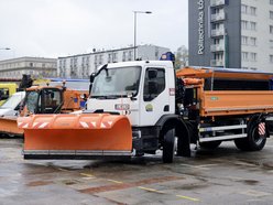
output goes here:
[[17, 117], [0, 117], [0, 133], [8, 136], [23, 136], [24, 131], [18, 127]]

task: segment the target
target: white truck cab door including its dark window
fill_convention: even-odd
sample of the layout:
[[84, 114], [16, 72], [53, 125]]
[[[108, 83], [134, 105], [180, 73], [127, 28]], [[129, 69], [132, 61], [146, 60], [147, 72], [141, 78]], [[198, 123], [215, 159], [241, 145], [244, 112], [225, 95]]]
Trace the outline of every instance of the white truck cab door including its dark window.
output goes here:
[[148, 67], [142, 91], [140, 126], [154, 126], [163, 115], [170, 114], [171, 110], [165, 68]]

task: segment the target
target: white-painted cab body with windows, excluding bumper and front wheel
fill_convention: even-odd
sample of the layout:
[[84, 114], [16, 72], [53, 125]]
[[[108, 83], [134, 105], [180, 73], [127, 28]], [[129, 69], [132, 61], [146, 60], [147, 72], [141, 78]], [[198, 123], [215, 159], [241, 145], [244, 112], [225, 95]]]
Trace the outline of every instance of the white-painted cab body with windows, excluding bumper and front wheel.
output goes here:
[[133, 127], [154, 126], [175, 112], [174, 75], [170, 61], [108, 64], [94, 80], [87, 110], [127, 115]]

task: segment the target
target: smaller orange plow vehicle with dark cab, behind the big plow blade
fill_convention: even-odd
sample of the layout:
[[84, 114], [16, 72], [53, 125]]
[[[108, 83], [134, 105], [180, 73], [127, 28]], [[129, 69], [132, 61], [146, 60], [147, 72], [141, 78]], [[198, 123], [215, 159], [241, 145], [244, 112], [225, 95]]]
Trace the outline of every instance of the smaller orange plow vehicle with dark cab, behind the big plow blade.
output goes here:
[[80, 110], [81, 93], [65, 87], [31, 86], [25, 89], [25, 97], [17, 116], [0, 117], [0, 132], [8, 136], [22, 136], [22, 128], [17, 125], [18, 116], [34, 114], [68, 114]]

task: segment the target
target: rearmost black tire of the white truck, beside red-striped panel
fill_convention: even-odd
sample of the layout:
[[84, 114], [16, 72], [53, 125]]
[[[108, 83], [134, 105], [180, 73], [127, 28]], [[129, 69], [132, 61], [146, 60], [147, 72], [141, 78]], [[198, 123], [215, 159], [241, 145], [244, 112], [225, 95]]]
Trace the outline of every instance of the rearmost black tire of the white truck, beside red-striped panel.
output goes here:
[[236, 147], [242, 151], [260, 151], [266, 143], [266, 138], [259, 134], [259, 122], [252, 123], [248, 137], [234, 140]]

